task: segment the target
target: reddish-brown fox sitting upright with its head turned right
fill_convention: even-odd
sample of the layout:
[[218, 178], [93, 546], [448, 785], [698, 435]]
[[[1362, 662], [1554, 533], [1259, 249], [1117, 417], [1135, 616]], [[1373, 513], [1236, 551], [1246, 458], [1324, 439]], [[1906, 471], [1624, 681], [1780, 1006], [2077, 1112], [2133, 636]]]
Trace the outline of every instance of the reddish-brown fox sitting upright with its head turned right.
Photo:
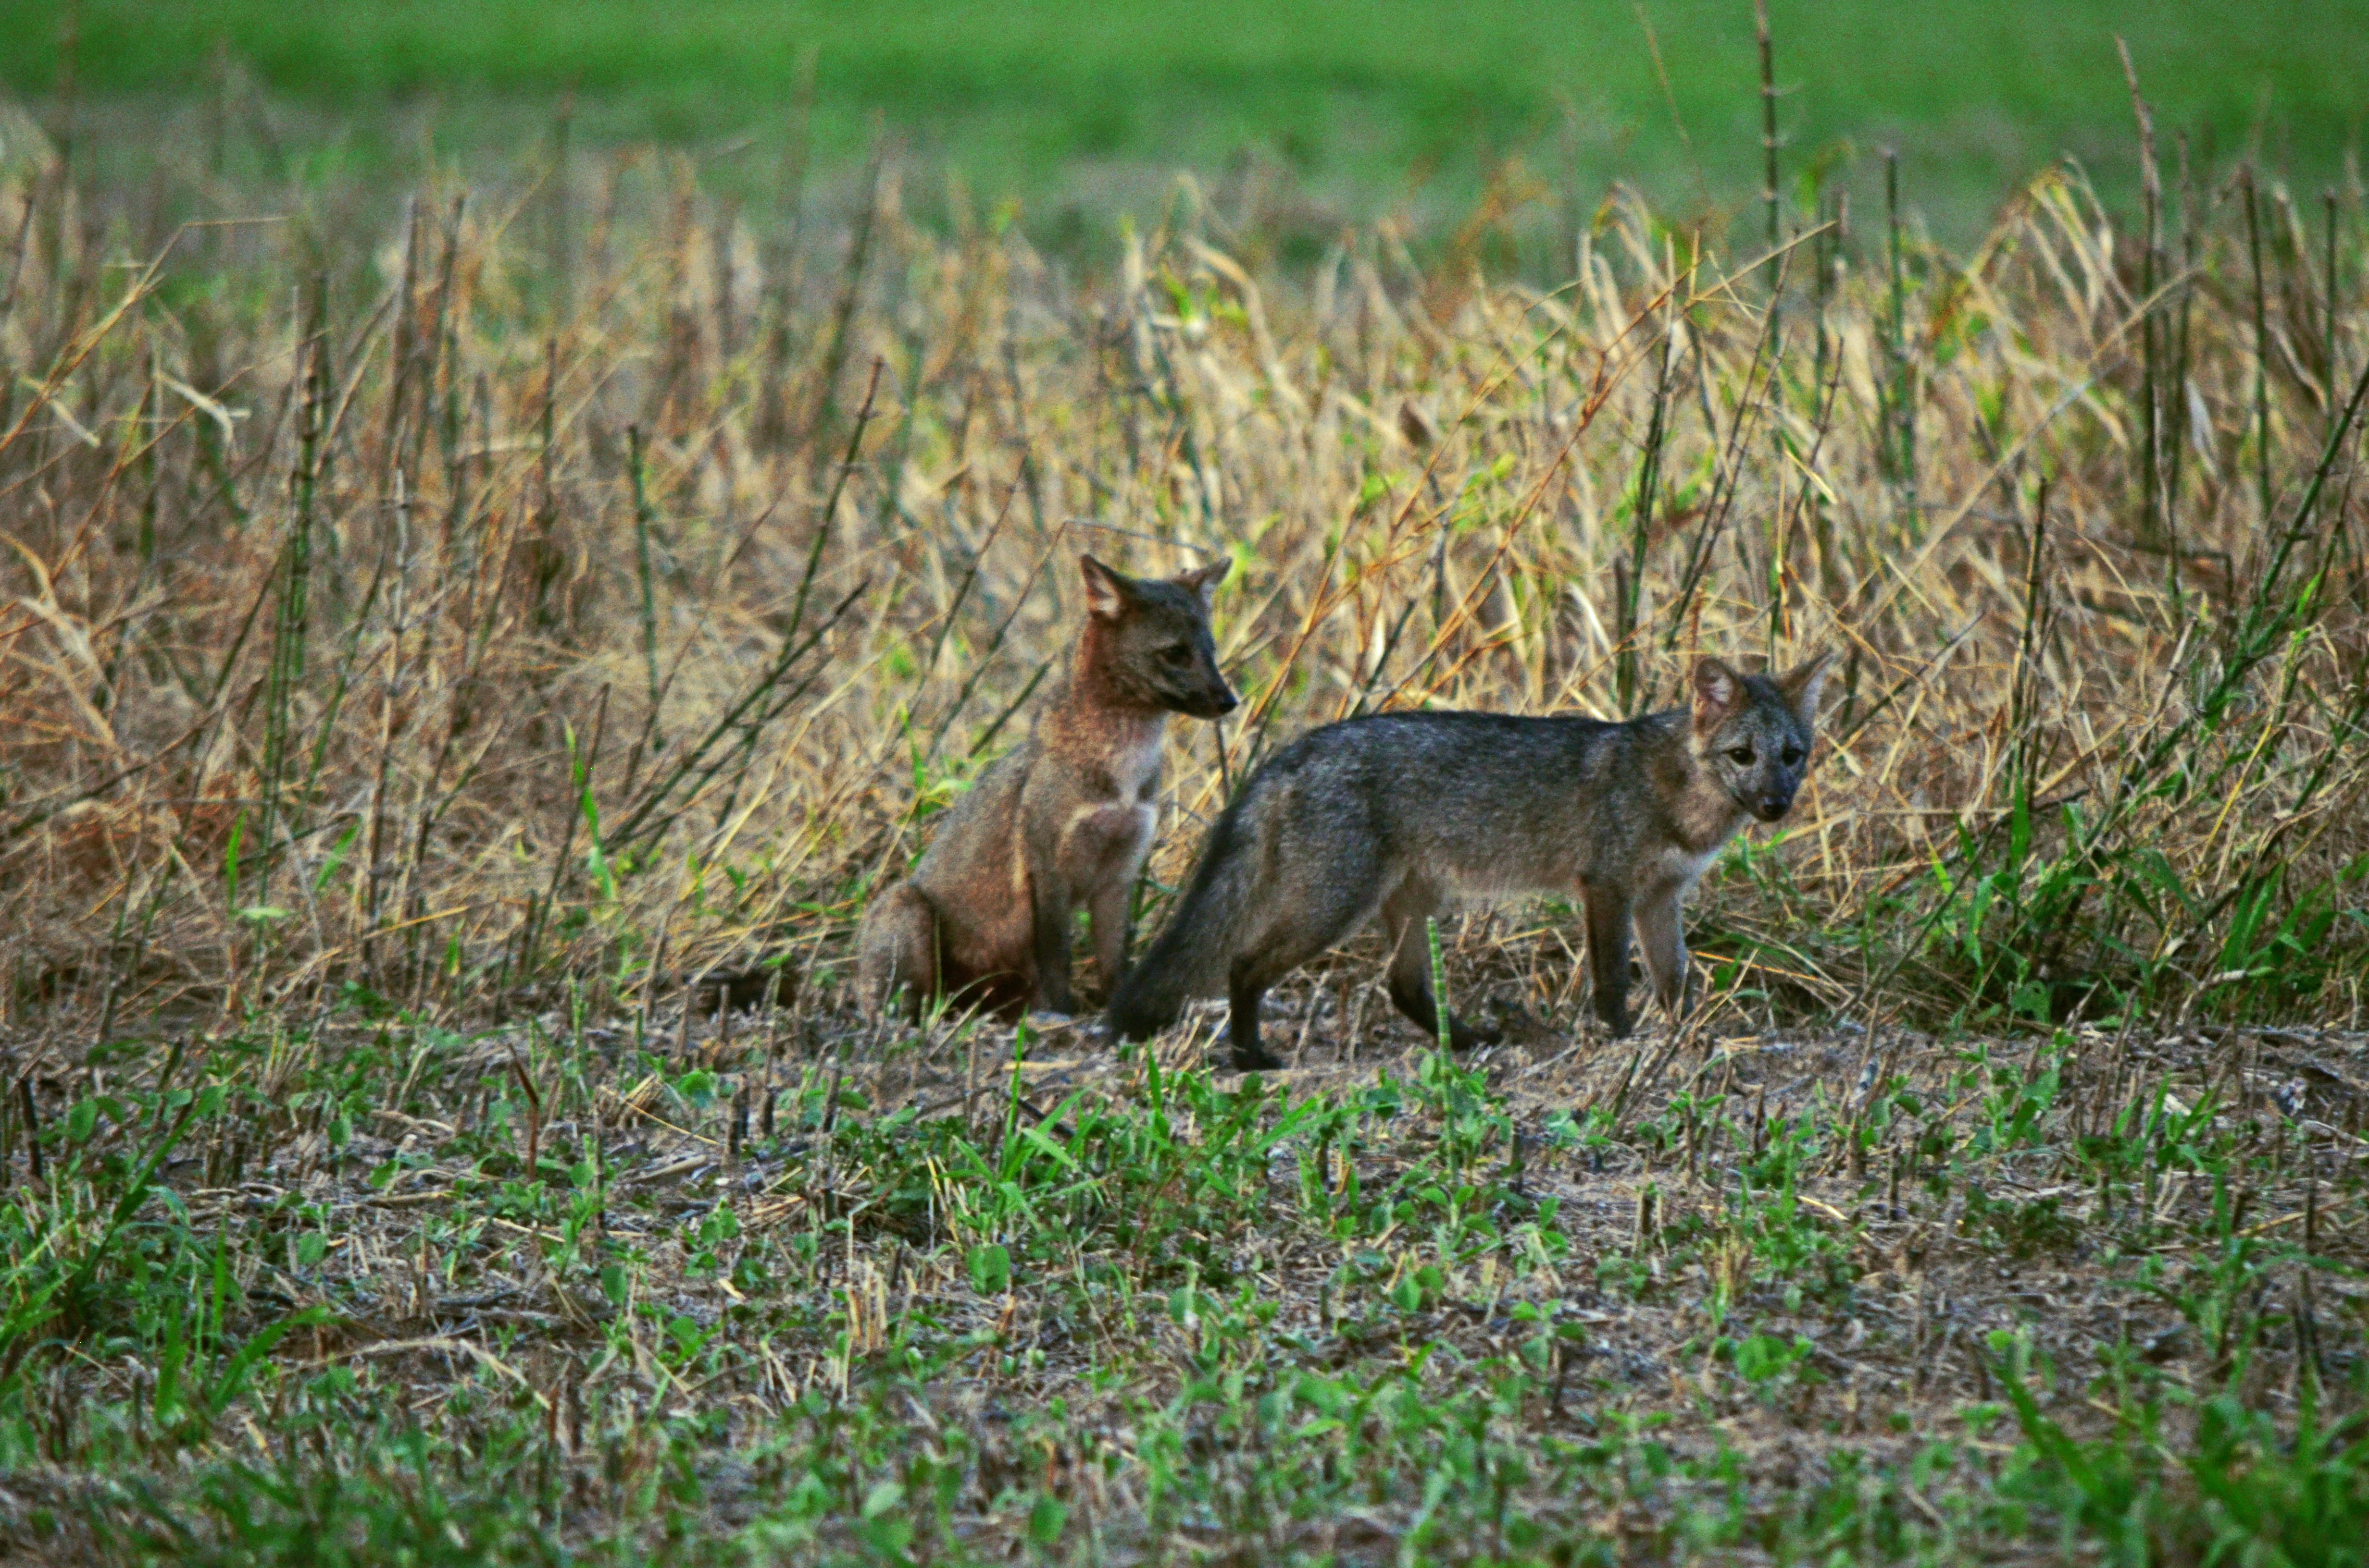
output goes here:
[[1222, 718], [1208, 606], [1227, 561], [1166, 583], [1090, 554], [1085, 625], [1028, 739], [978, 775], [912, 876], [865, 910], [858, 985], [872, 1007], [903, 988], [905, 1014], [938, 995], [995, 1011], [1071, 1011], [1068, 938], [1094, 921], [1104, 985], [1128, 952], [1128, 893], [1158, 824], [1161, 732], [1170, 713]]

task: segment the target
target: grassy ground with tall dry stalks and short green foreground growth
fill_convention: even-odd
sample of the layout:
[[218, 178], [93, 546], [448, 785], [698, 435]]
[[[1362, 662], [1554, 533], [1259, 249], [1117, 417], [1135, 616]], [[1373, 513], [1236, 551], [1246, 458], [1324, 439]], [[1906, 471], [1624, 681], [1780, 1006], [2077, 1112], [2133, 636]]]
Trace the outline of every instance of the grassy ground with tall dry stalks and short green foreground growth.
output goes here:
[[[1535, 287], [1495, 201], [1080, 279], [895, 168], [166, 251], [201, 159], [0, 159], [12, 1561], [2360, 1561], [2357, 192]], [[1310, 725], [1836, 649], [1701, 1009], [1587, 1035], [1547, 900], [1443, 931], [1471, 1059], [1372, 943], [1263, 1078], [862, 1018], [1078, 550], [1237, 561], [1142, 924]]]

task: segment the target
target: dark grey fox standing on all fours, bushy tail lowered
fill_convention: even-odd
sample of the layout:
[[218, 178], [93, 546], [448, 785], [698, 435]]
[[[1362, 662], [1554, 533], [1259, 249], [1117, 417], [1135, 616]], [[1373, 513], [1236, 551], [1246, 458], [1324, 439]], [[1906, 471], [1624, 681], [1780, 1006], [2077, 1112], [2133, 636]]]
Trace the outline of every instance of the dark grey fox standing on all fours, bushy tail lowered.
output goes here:
[[[1694, 666], [1694, 703], [1623, 725], [1507, 713], [1379, 713], [1275, 756], [1218, 817], [1161, 938], [1111, 997], [1111, 1030], [1166, 1028], [1187, 997], [1232, 1000], [1234, 1066], [1275, 1068], [1258, 1000], [1381, 914], [1391, 1000], [1438, 1030], [1426, 919], [1457, 895], [1587, 902], [1597, 1016], [1630, 1028], [1630, 921], [1663, 1009], [1687, 995], [1677, 907], [1746, 817], [1793, 808], [1826, 656], [1786, 675]], [[1495, 1033], [1450, 1021], [1457, 1049]]]

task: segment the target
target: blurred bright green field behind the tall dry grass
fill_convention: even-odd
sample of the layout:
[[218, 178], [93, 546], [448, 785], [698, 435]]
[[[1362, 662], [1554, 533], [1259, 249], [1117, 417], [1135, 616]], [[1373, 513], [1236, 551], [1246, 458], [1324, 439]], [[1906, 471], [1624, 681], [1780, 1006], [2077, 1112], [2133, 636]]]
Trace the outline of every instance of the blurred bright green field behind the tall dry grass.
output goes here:
[[[2165, 161], [2187, 133], [2201, 163], [2255, 152], [2317, 197], [2369, 116], [2364, 0], [1774, 0], [1772, 24], [1789, 173], [1874, 189], [1898, 147], [1943, 232], [2056, 154], [2130, 185], [2116, 36]], [[71, 40], [95, 159], [227, 121], [282, 163], [467, 161], [547, 140], [566, 99], [578, 147], [656, 137], [753, 187], [810, 57], [820, 178], [884, 126], [924, 173], [907, 204], [943, 201], [945, 171], [1038, 225], [1251, 168], [1312, 223], [1405, 206], [1438, 227], [1509, 156], [1559, 199], [1630, 178], [1734, 213], [1760, 156], [1751, 0], [0, 0], [0, 38], [7, 90], [43, 114]]]

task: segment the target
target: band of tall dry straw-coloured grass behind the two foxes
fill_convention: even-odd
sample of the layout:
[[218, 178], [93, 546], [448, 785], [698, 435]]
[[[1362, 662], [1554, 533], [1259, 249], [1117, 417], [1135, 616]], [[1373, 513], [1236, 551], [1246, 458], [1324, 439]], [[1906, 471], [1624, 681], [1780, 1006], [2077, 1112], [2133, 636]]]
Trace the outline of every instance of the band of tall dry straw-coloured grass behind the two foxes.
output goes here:
[[[597, 1011], [661, 943], [829, 983], [1094, 547], [1239, 561], [1248, 718], [1177, 732], [1158, 883], [1308, 725], [1834, 647], [1781, 848], [1706, 893], [1732, 1007], [2355, 1007], [2357, 204], [2149, 154], [2137, 230], [2052, 168], [1966, 256], [1898, 199], [1727, 253], [1616, 192], [1535, 287], [1388, 227], [1286, 272], [1184, 187], [1078, 282], [888, 161], [834, 230], [554, 154], [126, 265], [7, 147], [19, 1002]], [[1452, 959], [1568, 1009], [1571, 940]]]

